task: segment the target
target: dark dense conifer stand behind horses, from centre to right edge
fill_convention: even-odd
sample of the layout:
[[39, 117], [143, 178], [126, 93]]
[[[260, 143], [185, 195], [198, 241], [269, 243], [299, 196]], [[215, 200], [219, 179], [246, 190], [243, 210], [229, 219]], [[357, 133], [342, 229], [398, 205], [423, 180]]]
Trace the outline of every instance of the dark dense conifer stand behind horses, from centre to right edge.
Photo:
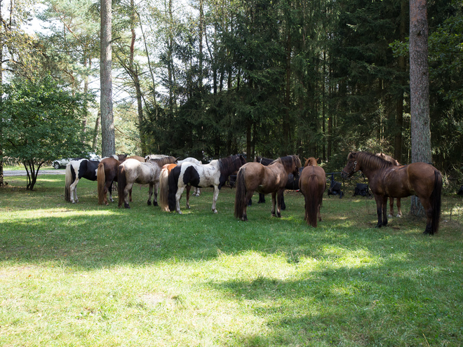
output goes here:
[[[410, 162], [408, 1], [196, 5], [197, 20], [166, 41], [168, 96], [142, 123], [149, 151], [338, 166], [365, 149]], [[429, 1], [428, 17], [434, 162], [449, 170], [462, 165], [462, 5]]]

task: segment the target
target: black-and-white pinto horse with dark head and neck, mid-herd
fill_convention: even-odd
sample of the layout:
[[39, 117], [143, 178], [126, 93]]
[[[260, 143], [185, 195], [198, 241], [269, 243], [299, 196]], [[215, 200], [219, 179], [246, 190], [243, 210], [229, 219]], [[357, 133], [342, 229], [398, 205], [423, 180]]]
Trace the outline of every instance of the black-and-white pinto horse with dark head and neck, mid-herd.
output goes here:
[[237, 154], [227, 158], [211, 161], [208, 164], [195, 164], [185, 162], [173, 168], [168, 176], [168, 208], [170, 211], [177, 211], [180, 215], [180, 197], [187, 188], [187, 208], [189, 208], [189, 189], [191, 186], [203, 188], [214, 187], [212, 210], [217, 213], [215, 205], [220, 189], [227, 182], [229, 175], [246, 164], [246, 159]]

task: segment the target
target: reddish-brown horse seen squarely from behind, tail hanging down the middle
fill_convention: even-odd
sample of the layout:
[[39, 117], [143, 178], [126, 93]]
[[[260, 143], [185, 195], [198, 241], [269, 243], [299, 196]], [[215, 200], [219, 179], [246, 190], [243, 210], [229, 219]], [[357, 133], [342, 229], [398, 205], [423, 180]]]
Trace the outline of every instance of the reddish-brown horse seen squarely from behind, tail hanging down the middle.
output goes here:
[[305, 216], [307, 225], [314, 228], [321, 222], [320, 208], [323, 203], [323, 193], [326, 189], [326, 173], [318, 166], [316, 158], [308, 158], [299, 178], [299, 186], [305, 200]]

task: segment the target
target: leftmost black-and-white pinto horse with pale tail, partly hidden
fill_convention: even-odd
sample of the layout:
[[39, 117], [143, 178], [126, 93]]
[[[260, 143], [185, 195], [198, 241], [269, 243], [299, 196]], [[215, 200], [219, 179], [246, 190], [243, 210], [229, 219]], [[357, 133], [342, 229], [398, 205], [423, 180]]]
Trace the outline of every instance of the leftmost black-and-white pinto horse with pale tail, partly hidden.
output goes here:
[[[123, 158], [126, 158], [126, 155], [120, 154], [112, 157], [121, 161]], [[96, 181], [99, 163], [99, 161], [89, 161], [85, 158], [76, 158], [69, 161], [65, 171], [65, 201], [79, 203], [76, 189], [79, 179], [85, 178], [90, 181]]]

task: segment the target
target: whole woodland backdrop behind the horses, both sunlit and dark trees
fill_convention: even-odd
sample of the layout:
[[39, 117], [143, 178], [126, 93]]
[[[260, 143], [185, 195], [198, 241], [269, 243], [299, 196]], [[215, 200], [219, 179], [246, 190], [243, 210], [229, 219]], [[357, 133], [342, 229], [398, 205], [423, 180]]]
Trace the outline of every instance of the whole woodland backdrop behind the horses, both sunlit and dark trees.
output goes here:
[[[0, 1], [4, 88], [51, 76], [97, 95], [99, 2], [13, 4]], [[117, 153], [300, 154], [338, 170], [361, 149], [410, 163], [408, 1], [114, 0], [112, 11]], [[47, 29], [26, 30], [34, 18]], [[461, 179], [462, 1], [428, 1], [428, 22], [433, 161]], [[72, 131], [98, 153], [98, 105], [79, 105]]]

